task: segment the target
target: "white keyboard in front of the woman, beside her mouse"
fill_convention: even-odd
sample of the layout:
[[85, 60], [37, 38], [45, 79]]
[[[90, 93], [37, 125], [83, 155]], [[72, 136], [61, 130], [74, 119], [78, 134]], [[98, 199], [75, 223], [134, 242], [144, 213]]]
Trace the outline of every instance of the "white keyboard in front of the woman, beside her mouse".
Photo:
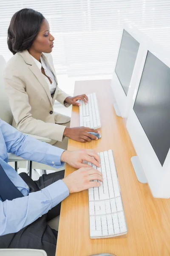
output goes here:
[[88, 94], [88, 104], [79, 100], [79, 119], [80, 126], [85, 126], [92, 129], [101, 127], [99, 109], [97, 105], [96, 93]]

